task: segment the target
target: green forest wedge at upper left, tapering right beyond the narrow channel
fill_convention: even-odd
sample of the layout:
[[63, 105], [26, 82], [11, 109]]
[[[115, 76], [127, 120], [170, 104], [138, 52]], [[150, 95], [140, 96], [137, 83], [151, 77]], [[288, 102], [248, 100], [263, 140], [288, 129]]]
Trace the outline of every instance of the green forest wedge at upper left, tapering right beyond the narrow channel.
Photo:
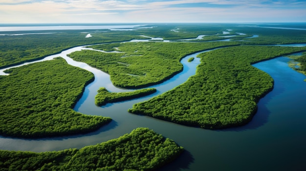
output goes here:
[[117, 31], [91, 33], [91, 38], [85, 38], [87, 33], [78, 32], [1, 36], [0, 68], [24, 61], [36, 60], [74, 46], [144, 38], [136, 35], [133, 36], [131, 32], [129, 32], [129, 35], [127, 33], [120, 32], [118, 34]]

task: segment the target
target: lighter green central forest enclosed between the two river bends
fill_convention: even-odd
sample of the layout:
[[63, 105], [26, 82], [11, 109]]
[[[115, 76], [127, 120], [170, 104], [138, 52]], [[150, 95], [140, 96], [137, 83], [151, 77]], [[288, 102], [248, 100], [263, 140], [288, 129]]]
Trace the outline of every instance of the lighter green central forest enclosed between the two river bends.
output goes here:
[[69, 57], [109, 73], [115, 86], [139, 88], [160, 83], [182, 71], [180, 60], [188, 54], [237, 44], [238, 42], [111, 43], [92, 47], [100, 50], [119, 49], [124, 53], [83, 50], [74, 52]]

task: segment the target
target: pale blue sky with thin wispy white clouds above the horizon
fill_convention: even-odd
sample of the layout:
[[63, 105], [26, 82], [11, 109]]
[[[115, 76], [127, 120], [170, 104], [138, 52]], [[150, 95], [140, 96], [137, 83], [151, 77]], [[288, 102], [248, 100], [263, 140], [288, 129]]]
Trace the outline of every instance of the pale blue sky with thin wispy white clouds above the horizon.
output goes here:
[[306, 0], [0, 0], [0, 23], [306, 22]]

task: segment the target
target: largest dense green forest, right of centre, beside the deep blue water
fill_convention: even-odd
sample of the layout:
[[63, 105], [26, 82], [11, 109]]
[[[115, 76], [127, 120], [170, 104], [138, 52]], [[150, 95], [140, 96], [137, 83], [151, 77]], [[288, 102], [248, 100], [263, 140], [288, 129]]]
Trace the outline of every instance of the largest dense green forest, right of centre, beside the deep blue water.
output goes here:
[[208, 129], [246, 124], [273, 88], [273, 79], [250, 64], [301, 50], [306, 47], [236, 46], [200, 54], [195, 76], [129, 112]]

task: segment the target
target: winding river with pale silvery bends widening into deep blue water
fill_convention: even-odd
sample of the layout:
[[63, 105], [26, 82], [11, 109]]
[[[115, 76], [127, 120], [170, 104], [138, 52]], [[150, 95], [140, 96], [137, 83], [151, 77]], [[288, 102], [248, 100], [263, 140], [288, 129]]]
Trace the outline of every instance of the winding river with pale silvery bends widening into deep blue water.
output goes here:
[[[181, 73], [152, 86], [157, 89], [155, 94], [98, 107], [94, 104], [94, 96], [100, 87], [106, 87], [111, 92], [130, 90], [113, 86], [106, 73], [66, 56], [82, 49], [87, 48], [71, 48], [42, 61], [63, 57], [69, 64], [92, 72], [95, 80], [86, 87], [74, 110], [83, 114], [109, 116], [113, 121], [95, 132], [82, 135], [42, 139], [0, 136], [0, 149], [45, 152], [82, 148], [117, 138], [138, 127], [148, 127], [175, 140], [186, 150], [161, 171], [298, 171], [306, 168], [306, 82], [303, 81], [304, 75], [287, 66], [289, 58], [278, 57], [253, 65], [272, 76], [275, 85], [273, 91], [260, 100], [258, 112], [249, 124], [212, 131], [127, 112], [133, 104], [171, 90], [195, 75], [196, 66], [200, 63], [196, 57], [199, 53], [181, 60], [184, 66]], [[206, 51], [200, 53], [204, 52]], [[193, 62], [188, 62], [190, 57], [196, 58]], [[0, 72], [3, 70], [5, 69]]]

